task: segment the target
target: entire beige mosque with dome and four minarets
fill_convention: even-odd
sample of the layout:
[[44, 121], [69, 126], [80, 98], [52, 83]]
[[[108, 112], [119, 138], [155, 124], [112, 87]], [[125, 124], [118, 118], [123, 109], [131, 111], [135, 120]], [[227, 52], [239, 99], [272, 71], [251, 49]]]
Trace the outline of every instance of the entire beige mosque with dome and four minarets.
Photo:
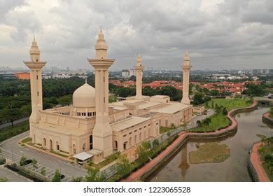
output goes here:
[[137, 92], [122, 102], [109, 104], [109, 67], [115, 61], [107, 57], [102, 29], [95, 45], [95, 57], [87, 59], [94, 67], [95, 88], [88, 85], [73, 92], [73, 104], [43, 110], [41, 69], [46, 62], [40, 59], [35, 37], [29, 50], [31, 116], [30, 137], [36, 146], [48, 151], [91, 158], [100, 162], [116, 151], [125, 152], [142, 141], [160, 135], [160, 126], [181, 125], [193, 117], [189, 99], [190, 60], [185, 53], [183, 65], [183, 99], [170, 101], [169, 96], [142, 95], [144, 65], [140, 55], [135, 66]]

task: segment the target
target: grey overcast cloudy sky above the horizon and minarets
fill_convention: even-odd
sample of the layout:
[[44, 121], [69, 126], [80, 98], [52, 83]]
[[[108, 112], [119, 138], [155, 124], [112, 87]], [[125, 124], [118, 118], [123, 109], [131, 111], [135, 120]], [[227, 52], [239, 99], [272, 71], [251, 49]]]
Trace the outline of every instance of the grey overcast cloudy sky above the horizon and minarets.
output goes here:
[[272, 0], [0, 0], [0, 66], [24, 67], [36, 35], [47, 66], [89, 68], [102, 25], [112, 69], [273, 68]]

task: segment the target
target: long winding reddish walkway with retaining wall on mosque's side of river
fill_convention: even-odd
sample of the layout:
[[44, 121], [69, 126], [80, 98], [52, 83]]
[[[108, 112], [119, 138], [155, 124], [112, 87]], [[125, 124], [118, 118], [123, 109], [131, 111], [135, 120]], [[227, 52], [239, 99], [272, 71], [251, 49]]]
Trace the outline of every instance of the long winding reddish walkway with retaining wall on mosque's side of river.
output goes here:
[[230, 120], [230, 126], [224, 129], [218, 130], [216, 132], [207, 132], [207, 133], [193, 133], [193, 132], [182, 132], [179, 134], [179, 138], [176, 139], [168, 148], [165, 149], [160, 155], [148, 162], [144, 167], [141, 167], [136, 172], [133, 172], [130, 176], [127, 177], [124, 181], [140, 181], [141, 179], [146, 179], [147, 176], [151, 175], [158, 167], [164, 164], [176, 151], [189, 139], [215, 139], [227, 137], [229, 135], [237, 132], [237, 121], [233, 116], [237, 113], [253, 111], [257, 107], [257, 102], [253, 102], [251, 106], [241, 109], [232, 109], [228, 113], [228, 118]]

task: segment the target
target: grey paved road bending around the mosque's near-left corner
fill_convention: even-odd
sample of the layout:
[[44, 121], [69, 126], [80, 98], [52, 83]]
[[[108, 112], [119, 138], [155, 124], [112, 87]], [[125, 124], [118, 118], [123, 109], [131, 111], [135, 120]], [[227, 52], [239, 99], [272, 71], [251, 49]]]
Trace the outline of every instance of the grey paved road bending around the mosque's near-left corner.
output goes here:
[[[66, 160], [62, 160], [60, 158], [56, 158], [55, 156], [36, 151], [32, 148], [18, 145], [18, 141], [27, 137], [28, 135], [29, 132], [25, 132], [16, 137], [13, 137], [12, 139], [3, 141], [1, 147], [3, 148], [3, 151], [6, 150], [6, 154], [4, 156], [10, 158], [10, 160], [14, 159], [15, 162], [20, 161], [22, 156], [25, 156], [29, 159], [35, 158], [38, 162], [38, 172], [41, 172], [41, 167], [45, 167], [47, 170], [46, 175], [51, 178], [54, 176], [55, 169], [60, 169], [62, 174], [67, 176], [65, 181], [70, 181], [72, 178], [71, 176], [85, 176], [87, 174], [85, 169], [81, 169], [80, 166], [71, 165]], [[31, 165], [28, 167], [31, 168]]]

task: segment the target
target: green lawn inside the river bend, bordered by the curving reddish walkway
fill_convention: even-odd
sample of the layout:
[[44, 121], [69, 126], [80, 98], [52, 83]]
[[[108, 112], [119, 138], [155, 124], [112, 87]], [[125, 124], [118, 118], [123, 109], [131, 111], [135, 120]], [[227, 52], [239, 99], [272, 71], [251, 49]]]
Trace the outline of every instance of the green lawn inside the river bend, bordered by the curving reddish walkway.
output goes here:
[[211, 123], [209, 125], [202, 125], [201, 127], [195, 127], [188, 130], [189, 132], [214, 132], [223, 127], [227, 127], [230, 124], [230, 120], [227, 116], [223, 116], [222, 113], [216, 113], [211, 116]]

